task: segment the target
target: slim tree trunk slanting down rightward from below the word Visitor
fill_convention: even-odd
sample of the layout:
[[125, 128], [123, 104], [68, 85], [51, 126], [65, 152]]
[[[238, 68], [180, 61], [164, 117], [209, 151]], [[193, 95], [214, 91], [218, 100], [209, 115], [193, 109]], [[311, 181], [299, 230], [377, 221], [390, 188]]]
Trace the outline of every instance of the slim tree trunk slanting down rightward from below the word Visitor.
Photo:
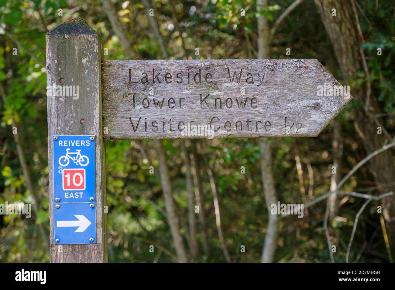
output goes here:
[[166, 155], [162, 145], [162, 142], [158, 139], [153, 140], [156, 153], [158, 154], [159, 163], [159, 176], [160, 183], [162, 184], [163, 198], [165, 200], [167, 222], [170, 226], [171, 236], [175, 250], [177, 252], [177, 258], [181, 263], [187, 263], [188, 258], [186, 256], [184, 241], [180, 234], [180, 224], [176, 214], [176, 205], [172, 195], [172, 188], [170, 184], [169, 168], [166, 163]]

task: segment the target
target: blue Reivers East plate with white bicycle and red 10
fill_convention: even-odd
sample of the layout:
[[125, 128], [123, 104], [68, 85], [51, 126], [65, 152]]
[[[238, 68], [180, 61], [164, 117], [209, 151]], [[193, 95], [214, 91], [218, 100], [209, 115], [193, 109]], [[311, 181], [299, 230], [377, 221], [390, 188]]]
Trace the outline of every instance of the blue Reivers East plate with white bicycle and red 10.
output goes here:
[[54, 202], [94, 201], [94, 136], [55, 135], [53, 167]]

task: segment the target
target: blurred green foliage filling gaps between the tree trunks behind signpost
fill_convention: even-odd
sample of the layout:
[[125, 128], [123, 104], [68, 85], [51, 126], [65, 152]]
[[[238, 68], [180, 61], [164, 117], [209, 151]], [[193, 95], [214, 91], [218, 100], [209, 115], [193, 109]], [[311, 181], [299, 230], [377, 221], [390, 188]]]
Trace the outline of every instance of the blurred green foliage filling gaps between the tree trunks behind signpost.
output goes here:
[[[155, 17], [172, 59], [244, 59], [256, 58], [257, 17], [265, 15], [273, 26], [292, 0], [270, 1], [269, 7], [257, 11], [254, 0], [178, 1], [155, 0]], [[393, 135], [395, 74], [395, 31], [393, 9], [388, 4], [367, 1], [366, 17], [360, 17], [366, 41], [361, 49], [367, 55], [372, 98], [378, 98], [386, 112], [386, 127]], [[365, 4], [364, 4], [365, 5]], [[133, 49], [143, 59], [161, 58], [157, 39], [152, 37], [144, 7], [139, 1], [115, 3], [119, 20], [128, 31]], [[63, 16], [58, 15], [63, 10]], [[241, 15], [244, 9], [245, 15]], [[0, 204], [31, 202], [25, 185], [13, 136], [12, 119], [23, 140], [24, 154], [39, 197], [39, 208], [31, 218], [0, 215], [0, 262], [49, 262], [48, 249], [38, 225], [49, 232], [47, 98], [45, 68], [45, 33], [71, 17], [82, 17], [100, 33], [103, 47], [109, 51], [105, 59], [128, 57], [115, 36], [99, 0], [0, 0], [0, 81], [6, 88], [6, 102], [0, 101]], [[173, 24], [173, 29], [170, 27]], [[4, 34], [7, 32], [6, 34]], [[14, 41], [16, 39], [18, 43]], [[292, 56], [286, 48], [292, 46]], [[17, 55], [13, 55], [13, 49]], [[199, 55], [195, 49], [199, 48]], [[377, 49], [382, 55], [377, 55]], [[271, 43], [272, 58], [317, 58], [340, 79], [330, 41], [312, 1], [298, 6], [278, 27]], [[352, 86], [367, 83], [364, 71], [352, 80]], [[364, 104], [353, 100], [337, 117], [344, 131], [344, 160], [340, 174], [345, 174], [361, 159], [361, 144], [354, 129], [354, 108]], [[272, 139], [273, 175], [276, 191], [284, 203], [301, 203], [295, 146], [304, 170], [306, 190], [309, 185], [308, 165], [314, 175], [314, 194], [329, 190], [332, 166], [332, 129], [328, 126], [316, 138]], [[186, 141], [188, 153], [196, 141]], [[173, 185], [173, 195], [180, 207], [184, 223], [187, 219], [186, 172], [178, 140], [163, 142]], [[201, 228], [198, 226], [199, 257], [196, 262], [224, 262], [218, 239], [207, 161], [214, 174], [221, 210], [222, 228], [229, 253], [235, 262], [259, 262], [267, 229], [268, 214], [261, 185], [260, 146], [256, 139], [225, 138], [201, 140], [199, 172], [203, 187], [203, 204], [207, 211], [207, 233], [210, 256], [203, 254]], [[143, 150], [144, 152], [143, 153]], [[147, 155], [147, 156], [145, 156]], [[106, 142], [107, 206], [109, 260], [111, 262], [174, 262], [175, 249], [164, 215], [165, 204], [158, 178], [156, 151], [150, 140], [111, 140]], [[151, 167], [154, 173], [151, 174]], [[241, 168], [244, 167], [245, 173]], [[361, 168], [345, 185], [345, 189], [369, 187], [374, 179], [369, 167]], [[368, 186], [369, 185], [369, 186]], [[373, 190], [375, 192], [375, 190]], [[351, 234], [360, 200], [350, 200], [340, 208], [339, 221], [333, 221], [331, 234], [337, 241], [337, 260], [344, 262], [345, 247]], [[375, 233], [367, 248], [376, 255], [363, 254], [360, 262], [384, 262], [386, 253], [376, 204], [372, 202], [359, 222], [352, 248], [355, 258], [366, 236]], [[322, 230], [325, 202], [309, 209], [303, 219], [289, 217], [280, 222], [276, 261], [329, 262], [325, 233]], [[196, 217], [198, 223], [198, 216]], [[182, 228], [182, 233], [188, 233]], [[155, 252], [149, 252], [154, 245]], [[240, 253], [245, 245], [246, 253]], [[355, 246], [354, 246], [355, 245]]]

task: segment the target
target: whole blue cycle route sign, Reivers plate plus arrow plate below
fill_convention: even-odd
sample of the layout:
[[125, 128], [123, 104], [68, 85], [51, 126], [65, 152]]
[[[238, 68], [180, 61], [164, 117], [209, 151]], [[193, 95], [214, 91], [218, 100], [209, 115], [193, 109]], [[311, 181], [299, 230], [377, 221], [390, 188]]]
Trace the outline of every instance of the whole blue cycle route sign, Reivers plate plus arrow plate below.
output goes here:
[[55, 244], [96, 243], [95, 137], [53, 137]]

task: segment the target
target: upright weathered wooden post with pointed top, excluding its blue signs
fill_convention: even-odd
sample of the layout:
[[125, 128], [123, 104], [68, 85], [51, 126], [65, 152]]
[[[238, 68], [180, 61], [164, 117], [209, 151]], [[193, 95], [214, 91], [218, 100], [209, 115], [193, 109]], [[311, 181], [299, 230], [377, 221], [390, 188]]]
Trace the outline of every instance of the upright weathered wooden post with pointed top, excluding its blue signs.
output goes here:
[[[48, 102], [49, 210], [51, 262], [107, 262], [105, 145], [102, 132], [101, 37], [80, 18], [70, 19], [46, 35], [48, 86], [76, 86], [78, 96], [51, 96]], [[48, 95], [48, 94], [47, 94]], [[53, 135], [96, 137], [96, 241], [55, 245]]]

